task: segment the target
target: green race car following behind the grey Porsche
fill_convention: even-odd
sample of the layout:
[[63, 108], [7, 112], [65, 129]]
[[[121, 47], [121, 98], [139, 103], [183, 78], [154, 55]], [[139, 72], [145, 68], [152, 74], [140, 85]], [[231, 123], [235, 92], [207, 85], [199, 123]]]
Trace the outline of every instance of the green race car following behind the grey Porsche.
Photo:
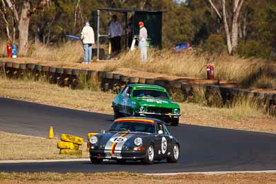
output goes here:
[[159, 85], [130, 84], [112, 101], [114, 118], [122, 116], [146, 116], [178, 125], [180, 107], [172, 103], [165, 88]]

